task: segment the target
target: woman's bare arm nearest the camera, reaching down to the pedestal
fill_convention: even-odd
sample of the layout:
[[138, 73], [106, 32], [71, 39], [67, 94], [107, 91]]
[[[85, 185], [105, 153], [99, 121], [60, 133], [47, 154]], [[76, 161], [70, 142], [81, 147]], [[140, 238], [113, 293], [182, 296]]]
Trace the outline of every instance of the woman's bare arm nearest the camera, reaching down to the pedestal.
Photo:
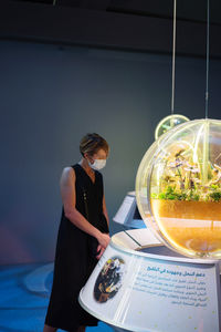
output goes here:
[[95, 237], [103, 248], [106, 248], [109, 242], [109, 236], [102, 234], [96, 227], [91, 225], [82, 214], [75, 208], [75, 172], [72, 167], [63, 169], [61, 177], [61, 195], [64, 206], [65, 217], [73, 222], [77, 228]]

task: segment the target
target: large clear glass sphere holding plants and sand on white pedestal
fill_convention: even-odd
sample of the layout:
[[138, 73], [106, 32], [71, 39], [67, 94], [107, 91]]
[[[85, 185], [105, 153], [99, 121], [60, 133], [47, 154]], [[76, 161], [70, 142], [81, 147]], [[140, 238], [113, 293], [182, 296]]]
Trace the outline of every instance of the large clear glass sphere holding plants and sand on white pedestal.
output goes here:
[[139, 212], [171, 249], [221, 258], [221, 121], [183, 123], [155, 142], [136, 178]]

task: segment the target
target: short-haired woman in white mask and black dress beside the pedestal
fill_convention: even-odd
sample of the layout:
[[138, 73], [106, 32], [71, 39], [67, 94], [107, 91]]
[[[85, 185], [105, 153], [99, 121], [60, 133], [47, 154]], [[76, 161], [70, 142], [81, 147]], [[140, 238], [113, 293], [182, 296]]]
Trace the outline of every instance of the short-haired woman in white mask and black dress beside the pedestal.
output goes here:
[[103, 177], [98, 172], [106, 164], [109, 147], [98, 134], [87, 134], [80, 152], [81, 162], [64, 168], [61, 177], [63, 210], [43, 332], [83, 332], [85, 326], [97, 325], [77, 298], [109, 242]]

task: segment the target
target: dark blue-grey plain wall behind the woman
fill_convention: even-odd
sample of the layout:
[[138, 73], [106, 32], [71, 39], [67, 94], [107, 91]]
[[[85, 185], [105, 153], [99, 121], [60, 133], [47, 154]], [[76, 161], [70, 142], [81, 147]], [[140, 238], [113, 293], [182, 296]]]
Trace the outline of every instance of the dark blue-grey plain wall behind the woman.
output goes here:
[[[170, 114], [171, 56], [1, 41], [0, 263], [53, 259], [62, 168], [97, 132], [110, 219], [134, 190], [158, 122]], [[211, 61], [209, 117], [220, 118], [221, 62]], [[177, 58], [175, 113], [204, 117], [206, 61]], [[112, 226], [112, 232], [117, 230]]]

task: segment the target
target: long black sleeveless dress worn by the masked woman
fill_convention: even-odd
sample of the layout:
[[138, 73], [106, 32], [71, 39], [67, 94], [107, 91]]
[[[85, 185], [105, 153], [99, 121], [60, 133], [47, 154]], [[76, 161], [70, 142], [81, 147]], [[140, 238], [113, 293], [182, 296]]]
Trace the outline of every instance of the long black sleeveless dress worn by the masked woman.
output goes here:
[[[93, 183], [81, 165], [76, 164], [72, 167], [76, 175], [76, 209], [102, 232], [108, 232], [103, 214], [102, 174], [95, 170], [95, 183]], [[95, 238], [74, 226], [64, 216], [64, 209], [62, 210], [45, 324], [72, 332], [80, 325], [97, 325], [97, 320], [84, 311], [77, 301], [80, 290], [97, 263], [94, 252], [94, 248], [97, 247], [95, 241]]]

